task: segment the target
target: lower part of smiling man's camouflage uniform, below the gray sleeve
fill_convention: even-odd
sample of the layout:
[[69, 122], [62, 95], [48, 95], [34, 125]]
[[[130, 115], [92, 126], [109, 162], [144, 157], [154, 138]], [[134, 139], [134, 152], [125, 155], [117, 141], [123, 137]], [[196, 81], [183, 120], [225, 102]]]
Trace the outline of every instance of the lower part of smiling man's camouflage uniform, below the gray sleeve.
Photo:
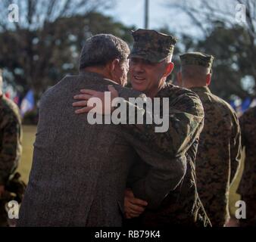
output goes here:
[[211, 227], [211, 221], [198, 197], [195, 166], [190, 159], [186, 172], [183, 182], [165, 197], [158, 209], [145, 209], [139, 218], [127, 219], [124, 226]]

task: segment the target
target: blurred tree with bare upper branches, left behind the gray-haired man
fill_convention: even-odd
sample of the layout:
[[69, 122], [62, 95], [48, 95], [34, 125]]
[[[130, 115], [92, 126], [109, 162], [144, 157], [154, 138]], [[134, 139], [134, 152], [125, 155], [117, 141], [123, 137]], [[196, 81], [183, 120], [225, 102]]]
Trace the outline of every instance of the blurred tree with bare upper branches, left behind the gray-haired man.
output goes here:
[[132, 41], [133, 26], [97, 12], [112, 0], [19, 0], [19, 21], [11, 23], [6, 10], [13, 2], [0, 2], [0, 67], [23, 94], [33, 88], [36, 99], [65, 74], [78, 72], [80, 50], [89, 36], [112, 33]]

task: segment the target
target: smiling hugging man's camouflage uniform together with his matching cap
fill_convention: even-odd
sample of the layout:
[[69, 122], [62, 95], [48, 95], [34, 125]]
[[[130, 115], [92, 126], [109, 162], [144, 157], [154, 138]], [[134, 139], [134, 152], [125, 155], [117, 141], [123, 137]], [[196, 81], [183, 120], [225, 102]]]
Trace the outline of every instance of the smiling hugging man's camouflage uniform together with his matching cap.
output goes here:
[[[139, 29], [133, 32], [134, 45], [130, 57], [142, 58], [152, 63], [158, 63], [173, 54], [176, 40], [154, 30]], [[152, 152], [158, 152], [163, 157], [170, 159], [170, 166], [176, 159], [185, 160], [186, 174], [180, 184], [173, 188], [158, 209], [145, 209], [139, 219], [131, 219], [130, 223], [145, 226], [208, 226], [211, 222], [204, 211], [198, 197], [195, 183], [195, 157], [198, 147], [198, 138], [203, 128], [204, 110], [200, 99], [195, 93], [175, 85], [165, 84], [155, 98], [160, 98], [160, 113], [163, 113], [163, 98], [169, 98], [167, 132], [155, 132], [155, 125], [124, 126], [124, 132], [136, 136], [151, 147]], [[147, 112], [145, 113], [145, 117]], [[157, 126], [157, 125], [156, 125]], [[150, 154], [149, 154], [150, 155]], [[164, 174], [152, 171], [145, 163], [136, 162], [130, 172], [128, 187], [133, 191], [138, 188], [140, 177], [155, 172], [159, 178], [164, 179]], [[139, 184], [141, 189], [143, 185]], [[134, 189], [136, 188], [136, 189]], [[158, 191], [155, 191], [156, 196]], [[136, 193], [134, 193], [136, 197]], [[138, 197], [148, 200], [145, 197]]]

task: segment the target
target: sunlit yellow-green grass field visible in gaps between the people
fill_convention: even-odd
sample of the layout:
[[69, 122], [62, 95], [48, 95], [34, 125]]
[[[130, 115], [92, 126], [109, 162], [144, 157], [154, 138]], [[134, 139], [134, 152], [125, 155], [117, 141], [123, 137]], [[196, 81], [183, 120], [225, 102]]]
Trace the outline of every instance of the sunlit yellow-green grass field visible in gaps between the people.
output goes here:
[[[33, 156], [33, 142], [35, 141], [36, 134], [36, 126], [23, 126], [23, 155], [21, 158], [20, 166], [18, 171], [21, 173], [22, 178], [25, 182], [28, 182], [30, 169], [32, 165], [32, 156]], [[239, 169], [239, 175], [234, 182], [229, 197], [229, 205], [230, 205], [230, 212], [232, 214], [235, 213], [235, 203], [239, 200], [239, 194], [236, 194], [236, 189], [239, 185], [239, 181], [242, 175], [243, 169], [243, 160], [242, 159], [242, 166]]]

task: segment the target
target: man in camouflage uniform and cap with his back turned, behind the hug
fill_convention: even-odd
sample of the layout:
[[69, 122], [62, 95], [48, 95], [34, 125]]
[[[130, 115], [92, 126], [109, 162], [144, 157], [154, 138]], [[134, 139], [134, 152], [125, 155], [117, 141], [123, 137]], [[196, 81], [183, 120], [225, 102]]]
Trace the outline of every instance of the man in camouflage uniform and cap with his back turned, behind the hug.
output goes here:
[[236, 113], [208, 88], [214, 57], [199, 52], [180, 55], [179, 85], [191, 89], [204, 106], [204, 129], [196, 157], [198, 194], [213, 226], [229, 219], [229, 188], [239, 168], [241, 133]]

